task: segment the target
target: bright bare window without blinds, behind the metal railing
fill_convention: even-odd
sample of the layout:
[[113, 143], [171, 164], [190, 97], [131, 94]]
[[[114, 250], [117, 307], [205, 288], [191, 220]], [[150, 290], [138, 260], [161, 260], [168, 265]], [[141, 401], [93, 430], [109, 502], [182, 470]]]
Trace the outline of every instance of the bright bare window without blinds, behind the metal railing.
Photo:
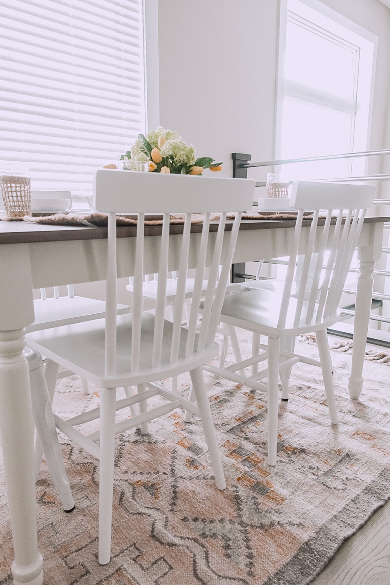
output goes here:
[[[316, 0], [283, 5], [283, 121], [276, 157], [367, 150], [377, 37]], [[365, 159], [340, 159], [280, 170], [284, 180], [348, 177], [365, 174], [365, 164]]]

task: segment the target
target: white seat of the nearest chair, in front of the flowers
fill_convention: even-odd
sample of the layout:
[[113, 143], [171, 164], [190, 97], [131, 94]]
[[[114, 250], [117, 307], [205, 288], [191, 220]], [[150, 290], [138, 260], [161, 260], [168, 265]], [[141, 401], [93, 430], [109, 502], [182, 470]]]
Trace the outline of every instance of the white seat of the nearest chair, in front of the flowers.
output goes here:
[[161, 364], [153, 368], [155, 315], [143, 312], [140, 370], [135, 373], [131, 371], [132, 318], [131, 314], [117, 317], [117, 367], [112, 376], [105, 375], [105, 319], [32, 332], [26, 336], [27, 344], [102, 388], [130, 386], [176, 376], [210, 361], [218, 353], [219, 346], [213, 343], [203, 352], [185, 357], [187, 330], [182, 328], [179, 357], [175, 363], [170, 363], [173, 324], [164, 321]]

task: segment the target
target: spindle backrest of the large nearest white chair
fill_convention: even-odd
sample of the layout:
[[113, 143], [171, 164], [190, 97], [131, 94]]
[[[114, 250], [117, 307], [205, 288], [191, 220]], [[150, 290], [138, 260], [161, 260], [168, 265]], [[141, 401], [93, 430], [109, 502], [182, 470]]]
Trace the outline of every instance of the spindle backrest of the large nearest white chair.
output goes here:
[[[142, 281], [144, 280], [144, 233], [145, 213], [162, 214], [161, 238], [156, 253], [158, 287], [153, 342], [153, 367], [161, 364], [164, 326], [166, 279], [168, 276], [169, 215], [185, 214], [183, 235], [175, 242], [179, 257], [175, 266], [177, 276], [176, 300], [172, 325], [170, 362], [179, 357], [189, 253], [191, 268], [196, 267], [194, 292], [188, 324], [186, 357], [201, 352], [214, 342], [242, 210], [252, 207], [255, 181], [249, 179], [190, 177], [157, 173], [132, 173], [130, 171], [98, 170], [93, 187], [93, 207], [106, 212], [108, 219], [107, 282], [106, 282], [106, 374], [116, 367], [116, 212], [138, 215], [137, 238], [134, 259], [133, 324], [131, 338], [131, 369], [140, 368]], [[236, 212], [232, 226], [227, 228], [227, 212]], [[191, 214], [203, 212], [204, 222], [200, 241], [190, 246]], [[210, 232], [212, 212], [220, 212], [220, 222], [215, 232]], [[227, 228], [225, 230], [225, 228]], [[231, 231], [229, 231], [231, 229]], [[199, 231], [199, 229], [197, 230]], [[210, 236], [210, 237], [209, 237]], [[223, 246], [223, 248], [222, 248]], [[157, 246], [156, 246], [157, 247]], [[219, 277], [219, 266], [224, 267]], [[203, 307], [203, 319], [196, 342], [196, 326], [201, 301], [204, 271], [209, 267], [208, 288]], [[182, 356], [183, 357], [183, 356]]]

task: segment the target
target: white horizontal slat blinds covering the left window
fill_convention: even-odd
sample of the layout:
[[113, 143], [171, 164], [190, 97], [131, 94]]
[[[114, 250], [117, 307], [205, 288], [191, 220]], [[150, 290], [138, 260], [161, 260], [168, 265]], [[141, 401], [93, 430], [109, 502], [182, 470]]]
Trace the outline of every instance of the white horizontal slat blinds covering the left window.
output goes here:
[[0, 161], [90, 195], [145, 131], [142, 0], [0, 0]]

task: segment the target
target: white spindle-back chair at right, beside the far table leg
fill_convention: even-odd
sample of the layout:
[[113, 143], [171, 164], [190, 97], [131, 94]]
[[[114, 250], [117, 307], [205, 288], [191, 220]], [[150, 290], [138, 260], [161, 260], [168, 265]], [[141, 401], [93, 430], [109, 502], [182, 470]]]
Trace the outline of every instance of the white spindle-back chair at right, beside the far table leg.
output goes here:
[[[283, 291], [255, 288], [225, 298], [221, 320], [268, 337], [264, 352], [224, 369], [205, 365], [204, 369], [228, 380], [244, 384], [253, 390], [267, 391], [268, 464], [277, 462], [278, 378], [280, 371], [304, 362], [322, 369], [330, 422], [337, 424], [335, 393], [332, 381], [326, 328], [335, 324], [340, 313], [337, 304], [342, 294], [357, 239], [363, 226], [365, 212], [372, 207], [375, 187], [294, 181], [291, 206], [298, 208], [291, 254]], [[314, 209], [309, 230], [302, 229], [305, 209]], [[325, 220], [318, 221], [319, 210], [326, 210]], [[332, 211], [336, 219], [332, 219]], [[345, 215], [344, 215], [345, 212]], [[318, 225], [323, 223], [323, 228]], [[298, 255], [304, 256], [299, 280]], [[314, 276], [309, 278], [314, 261]], [[323, 267], [325, 266], [325, 267]], [[358, 318], [358, 316], [357, 316]], [[315, 332], [319, 362], [298, 355], [281, 346], [281, 339]], [[267, 368], [251, 376], [241, 376], [238, 370], [267, 359]], [[267, 385], [259, 380], [267, 378]], [[189, 400], [192, 400], [192, 396]]]

